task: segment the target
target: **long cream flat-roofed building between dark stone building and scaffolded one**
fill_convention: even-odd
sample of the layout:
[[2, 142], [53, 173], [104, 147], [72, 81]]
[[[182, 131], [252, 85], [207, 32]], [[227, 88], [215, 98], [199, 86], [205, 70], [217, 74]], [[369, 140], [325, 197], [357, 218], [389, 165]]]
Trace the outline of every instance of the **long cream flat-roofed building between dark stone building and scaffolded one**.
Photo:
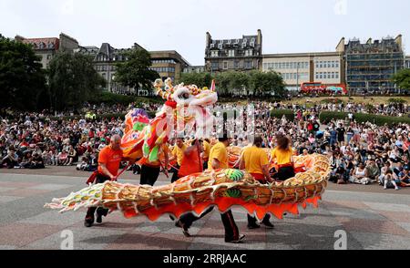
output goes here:
[[342, 53], [313, 52], [265, 54], [261, 69], [281, 74], [288, 90], [299, 90], [303, 83], [343, 84], [343, 68]]

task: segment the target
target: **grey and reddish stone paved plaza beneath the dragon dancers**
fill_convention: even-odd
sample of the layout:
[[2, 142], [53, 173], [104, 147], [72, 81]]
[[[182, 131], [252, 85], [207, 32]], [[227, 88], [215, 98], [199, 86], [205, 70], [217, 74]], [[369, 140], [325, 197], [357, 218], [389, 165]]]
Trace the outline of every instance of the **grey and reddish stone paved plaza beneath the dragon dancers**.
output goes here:
[[[101, 225], [83, 226], [85, 211], [59, 214], [43, 208], [54, 197], [67, 196], [85, 187], [88, 173], [69, 168], [0, 170], [0, 249], [60, 249], [61, 233], [74, 234], [74, 249], [323, 249], [333, 250], [334, 233], [347, 233], [347, 249], [410, 249], [410, 191], [379, 186], [329, 185], [319, 209], [308, 207], [298, 216], [274, 220], [275, 229], [247, 230], [246, 213], [234, 208], [241, 244], [223, 242], [217, 211], [190, 229], [186, 238], [162, 216], [157, 222], [145, 217], [125, 219], [118, 211]], [[138, 183], [127, 172], [122, 182]], [[158, 184], [167, 183], [161, 175]]]

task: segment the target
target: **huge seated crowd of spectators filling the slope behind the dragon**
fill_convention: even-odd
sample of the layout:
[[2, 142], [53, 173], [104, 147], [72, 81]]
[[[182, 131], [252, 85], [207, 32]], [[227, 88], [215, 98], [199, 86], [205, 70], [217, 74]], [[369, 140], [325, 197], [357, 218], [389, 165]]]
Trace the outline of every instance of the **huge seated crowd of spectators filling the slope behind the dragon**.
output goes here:
[[[139, 108], [156, 111], [157, 104], [138, 104]], [[238, 104], [239, 105], [239, 104]], [[233, 108], [236, 104], [218, 104]], [[92, 107], [97, 113], [125, 113], [127, 107]], [[265, 147], [274, 147], [278, 134], [288, 135], [299, 154], [323, 153], [330, 157], [331, 180], [337, 183], [379, 183], [384, 188], [399, 189], [410, 185], [410, 126], [377, 127], [357, 123], [354, 119], [319, 122], [323, 109], [363, 112], [360, 105], [341, 107], [334, 104], [303, 108], [280, 103], [255, 102], [255, 134], [264, 137]], [[292, 108], [293, 121], [272, 118], [270, 110]], [[406, 112], [401, 107], [380, 106], [380, 112]], [[2, 112], [0, 123], [0, 165], [9, 169], [41, 169], [47, 165], [74, 166], [77, 170], [97, 169], [98, 151], [109, 143], [113, 134], [123, 135], [123, 119], [50, 119], [44, 113]], [[232, 121], [231, 124], [235, 124]], [[237, 135], [234, 144], [247, 143], [246, 134]]]

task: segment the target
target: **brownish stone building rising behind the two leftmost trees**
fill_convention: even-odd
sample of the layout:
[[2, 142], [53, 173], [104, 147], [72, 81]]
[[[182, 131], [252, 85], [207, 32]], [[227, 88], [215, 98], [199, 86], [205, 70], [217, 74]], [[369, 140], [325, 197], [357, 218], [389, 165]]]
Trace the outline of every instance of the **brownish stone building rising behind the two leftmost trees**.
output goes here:
[[36, 55], [40, 57], [40, 62], [43, 65], [43, 68], [48, 67], [50, 60], [58, 51], [73, 53], [74, 50], [78, 48], [77, 40], [63, 33], [61, 33], [59, 37], [47, 38], [26, 38], [23, 36], [15, 36], [15, 40], [33, 46]]

